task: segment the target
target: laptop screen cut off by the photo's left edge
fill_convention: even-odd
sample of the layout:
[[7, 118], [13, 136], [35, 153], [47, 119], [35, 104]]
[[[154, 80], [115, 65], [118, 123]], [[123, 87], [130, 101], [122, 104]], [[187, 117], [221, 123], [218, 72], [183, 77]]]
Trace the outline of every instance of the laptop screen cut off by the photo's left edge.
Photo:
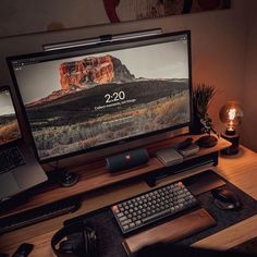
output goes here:
[[10, 89], [8, 87], [0, 87], [0, 146], [21, 137]]

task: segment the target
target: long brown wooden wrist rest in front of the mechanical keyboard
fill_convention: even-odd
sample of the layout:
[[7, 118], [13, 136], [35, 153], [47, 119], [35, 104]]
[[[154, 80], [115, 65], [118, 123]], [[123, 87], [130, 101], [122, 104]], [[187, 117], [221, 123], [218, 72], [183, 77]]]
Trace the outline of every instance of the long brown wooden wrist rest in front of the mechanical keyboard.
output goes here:
[[127, 237], [123, 241], [123, 246], [131, 255], [145, 245], [158, 242], [173, 243], [215, 224], [216, 220], [201, 208]]

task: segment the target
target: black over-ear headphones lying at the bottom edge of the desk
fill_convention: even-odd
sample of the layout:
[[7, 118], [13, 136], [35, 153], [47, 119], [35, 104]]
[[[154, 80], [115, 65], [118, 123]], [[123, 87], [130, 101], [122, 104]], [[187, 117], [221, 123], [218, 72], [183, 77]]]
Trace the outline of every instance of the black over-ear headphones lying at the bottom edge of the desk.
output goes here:
[[[66, 236], [70, 238], [62, 241]], [[94, 229], [85, 222], [75, 222], [63, 227], [52, 236], [51, 247], [58, 257], [94, 257], [96, 241]], [[58, 244], [59, 248], [57, 248]]]

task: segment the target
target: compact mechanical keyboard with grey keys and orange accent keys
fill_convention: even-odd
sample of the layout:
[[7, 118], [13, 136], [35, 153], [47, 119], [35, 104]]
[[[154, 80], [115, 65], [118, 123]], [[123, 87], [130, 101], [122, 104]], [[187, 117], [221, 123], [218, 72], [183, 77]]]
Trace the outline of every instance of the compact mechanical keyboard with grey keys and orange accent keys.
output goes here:
[[197, 205], [182, 182], [164, 185], [111, 207], [125, 235]]

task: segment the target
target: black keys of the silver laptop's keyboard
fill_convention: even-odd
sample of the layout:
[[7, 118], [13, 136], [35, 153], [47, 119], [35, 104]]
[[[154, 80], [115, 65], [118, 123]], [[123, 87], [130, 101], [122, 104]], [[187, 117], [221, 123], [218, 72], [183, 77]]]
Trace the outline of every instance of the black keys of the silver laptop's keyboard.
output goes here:
[[24, 158], [17, 147], [0, 151], [0, 174], [24, 164]]

